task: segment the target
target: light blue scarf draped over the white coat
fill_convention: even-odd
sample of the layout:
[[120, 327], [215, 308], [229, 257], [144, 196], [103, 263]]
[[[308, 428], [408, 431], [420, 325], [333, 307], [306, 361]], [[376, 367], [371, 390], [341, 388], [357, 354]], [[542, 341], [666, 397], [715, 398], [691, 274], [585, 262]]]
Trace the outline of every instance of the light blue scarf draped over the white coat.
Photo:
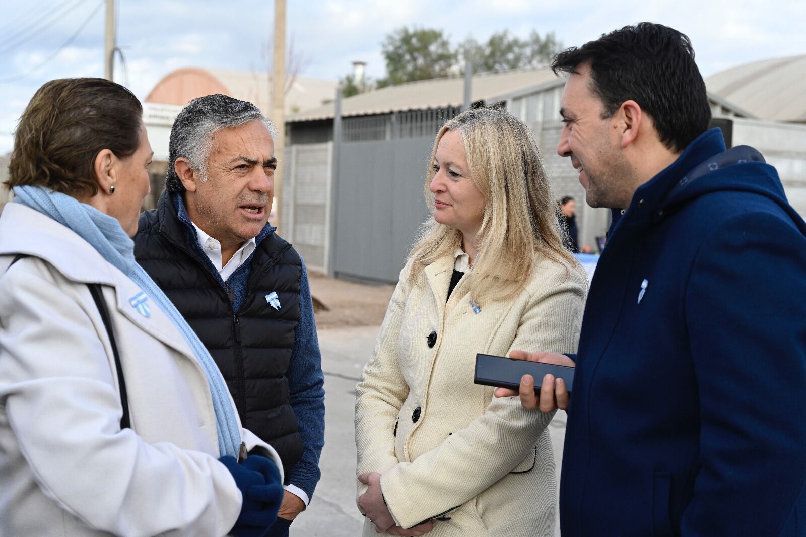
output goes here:
[[[93, 248], [98, 250], [105, 260], [127, 275], [143, 289], [145, 293], [160, 306], [160, 310], [171, 319], [173, 326], [185, 336], [185, 341], [193, 348], [199, 364], [207, 377], [210, 394], [213, 396], [215, 421], [218, 429], [218, 450], [221, 456], [229, 455], [238, 458], [241, 444], [240, 429], [235, 410], [232, 408], [230, 395], [226, 384], [213, 361], [210, 352], [198, 339], [196, 332], [189, 327], [185, 318], [176, 306], [168, 300], [156, 283], [148, 276], [145, 270], [135, 260], [135, 243], [120, 227], [117, 219], [103, 214], [100, 210], [85, 203], [78, 202], [60, 192], [53, 192], [39, 186], [15, 186], [15, 202], [21, 203], [31, 209], [49, 216], [75, 231], [85, 239]], [[181, 412], [182, 409], [174, 409]]]

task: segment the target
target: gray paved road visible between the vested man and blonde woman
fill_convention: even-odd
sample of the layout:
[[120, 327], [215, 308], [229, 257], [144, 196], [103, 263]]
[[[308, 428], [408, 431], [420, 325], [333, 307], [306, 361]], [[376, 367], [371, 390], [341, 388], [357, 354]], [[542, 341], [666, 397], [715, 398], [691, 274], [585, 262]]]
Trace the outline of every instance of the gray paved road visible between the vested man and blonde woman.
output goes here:
[[[327, 328], [319, 331], [325, 372], [326, 430], [322, 481], [314, 500], [293, 523], [290, 537], [355, 537], [364, 517], [355, 507], [355, 383], [369, 359], [379, 327]], [[565, 413], [550, 425], [557, 468], [562, 457]], [[559, 528], [555, 532], [559, 536]], [[540, 536], [536, 536], [540, 537]]]

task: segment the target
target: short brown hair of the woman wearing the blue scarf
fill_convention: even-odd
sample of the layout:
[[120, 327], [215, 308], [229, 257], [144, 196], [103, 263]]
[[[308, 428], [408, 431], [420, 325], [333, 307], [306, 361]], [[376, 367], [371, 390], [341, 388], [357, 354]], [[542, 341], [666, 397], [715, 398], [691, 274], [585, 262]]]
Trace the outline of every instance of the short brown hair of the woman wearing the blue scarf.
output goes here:
[[135, 154], [142, 123], [143, 106], [122, 85], [103, 78], [46, 82], [19, 119], [5, 185], [94, 196], [95, 157], [103, 149], [120, 158]]

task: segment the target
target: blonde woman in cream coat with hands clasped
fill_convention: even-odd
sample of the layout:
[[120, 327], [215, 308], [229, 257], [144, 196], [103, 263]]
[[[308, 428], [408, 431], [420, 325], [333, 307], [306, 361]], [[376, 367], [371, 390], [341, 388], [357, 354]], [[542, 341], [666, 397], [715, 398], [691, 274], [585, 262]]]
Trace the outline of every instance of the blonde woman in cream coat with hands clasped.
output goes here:
[[469, 110], [439, 131], [426, 223], [355, 402], [364, 535], [553, 535], [551, 414], [473, 384], [477, 352], [574, 352], [587, 280], [563, 248], [528, 127]]

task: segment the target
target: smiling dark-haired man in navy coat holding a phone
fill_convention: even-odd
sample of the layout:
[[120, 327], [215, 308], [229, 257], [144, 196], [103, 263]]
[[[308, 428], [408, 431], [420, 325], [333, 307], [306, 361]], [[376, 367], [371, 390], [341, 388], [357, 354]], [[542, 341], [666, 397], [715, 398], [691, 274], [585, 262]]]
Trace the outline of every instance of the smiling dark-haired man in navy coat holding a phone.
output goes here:
[[563, 535], [806, 535], [806, 224], [707, 130], [687, 36], [641, 23], [552, 67], [557, 150], [615, 217], [578, 354], [513, 353], [576, 368], [520, 392], [568, 410]]

